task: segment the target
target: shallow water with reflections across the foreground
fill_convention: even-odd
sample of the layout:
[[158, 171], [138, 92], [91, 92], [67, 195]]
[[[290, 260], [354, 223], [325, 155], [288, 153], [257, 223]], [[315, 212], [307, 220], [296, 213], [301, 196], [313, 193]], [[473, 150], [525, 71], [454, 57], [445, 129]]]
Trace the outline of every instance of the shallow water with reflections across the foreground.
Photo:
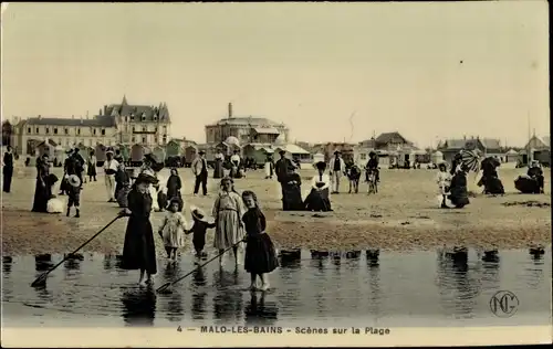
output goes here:
[[[197, 269], [158, 294], [136, 285], [137, 272], [119, 269], [117, 256], [85, 254], [30, 284], [51, 264], [35, 256], [3, 257], [3, 326], [482, 326], [551, 324], [551, 247], [543, 255], [499, 251], [497, 257], [438, 252], [332, 253], [281, 257], [271, 289], [247, 290], [249, 275], [230, 260]], [[40, 257], [39, 257], [40, 260]], [[158, 261], [155, 287], [194, 269], [191, 256], [176, 265]], [[154, 288], [155, 288], [154, 287]], [[503, 318], [490, 299], [510, 290], [520, 305]]]

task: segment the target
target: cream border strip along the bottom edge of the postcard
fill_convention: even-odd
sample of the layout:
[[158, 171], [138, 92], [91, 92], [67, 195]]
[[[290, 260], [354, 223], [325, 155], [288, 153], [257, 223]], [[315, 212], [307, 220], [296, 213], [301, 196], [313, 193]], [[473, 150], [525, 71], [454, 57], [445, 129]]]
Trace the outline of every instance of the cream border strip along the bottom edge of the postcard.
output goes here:
[[390, 328], [379, 335], [201, 334], [177, 328], [2, 328], [2, 347], [435, 347], [551, 343], [551, 326]]

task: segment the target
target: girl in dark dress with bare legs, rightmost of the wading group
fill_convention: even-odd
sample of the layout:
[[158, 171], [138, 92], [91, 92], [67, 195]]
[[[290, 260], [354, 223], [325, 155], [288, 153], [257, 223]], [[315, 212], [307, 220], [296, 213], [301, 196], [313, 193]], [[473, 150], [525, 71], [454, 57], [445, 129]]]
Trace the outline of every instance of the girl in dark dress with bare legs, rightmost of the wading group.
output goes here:
[[251, 275], [250, 289], [255, 290], [255, 281], [259, 276], [263, 283], [261, 290], [269, 289], [268, 273], [279, 266], [274, 245], [265, 233], [267, 221], [259, 209], [255, 193], [246, 190], [242, 200], [248, 211], [242, 216], [246, 229], [246, 262], [244, 268]]

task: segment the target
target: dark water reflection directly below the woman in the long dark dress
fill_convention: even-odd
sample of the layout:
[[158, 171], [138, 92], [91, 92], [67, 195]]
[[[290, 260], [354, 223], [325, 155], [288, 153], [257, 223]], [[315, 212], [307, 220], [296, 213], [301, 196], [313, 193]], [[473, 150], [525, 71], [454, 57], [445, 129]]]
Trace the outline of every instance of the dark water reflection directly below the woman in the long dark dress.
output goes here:
[[156, 317], [156, 293], [152, 287], [139, 287], [122, 293], [123, 319], [127, 326], [153, 326]]

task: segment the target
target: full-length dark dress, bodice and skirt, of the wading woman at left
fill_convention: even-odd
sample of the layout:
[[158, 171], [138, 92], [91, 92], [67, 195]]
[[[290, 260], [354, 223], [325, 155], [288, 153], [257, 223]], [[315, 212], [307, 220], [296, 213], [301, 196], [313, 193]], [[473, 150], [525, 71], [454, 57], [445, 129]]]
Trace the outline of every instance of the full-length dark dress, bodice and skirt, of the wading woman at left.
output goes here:
[[132, 214], [125, 232], [122, 268], [145, 269], [149, 274], [156, 274], [156, 246], [149, 222], [152, 197], [148, 193], [139, 193], [133, 188], [127, 199]]

